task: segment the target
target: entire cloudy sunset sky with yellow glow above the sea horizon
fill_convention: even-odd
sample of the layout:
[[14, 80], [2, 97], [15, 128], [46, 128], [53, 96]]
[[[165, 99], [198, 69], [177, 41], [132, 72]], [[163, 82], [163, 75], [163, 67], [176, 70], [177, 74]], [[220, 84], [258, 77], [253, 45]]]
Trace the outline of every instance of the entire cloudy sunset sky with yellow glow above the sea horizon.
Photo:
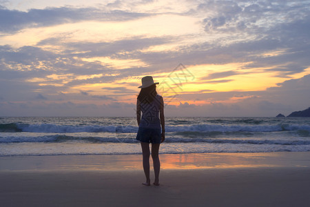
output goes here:
[[135, 116], [152, 75], [166, 116], [310, 106], [310, 1], [0, 0], [0, 117]]

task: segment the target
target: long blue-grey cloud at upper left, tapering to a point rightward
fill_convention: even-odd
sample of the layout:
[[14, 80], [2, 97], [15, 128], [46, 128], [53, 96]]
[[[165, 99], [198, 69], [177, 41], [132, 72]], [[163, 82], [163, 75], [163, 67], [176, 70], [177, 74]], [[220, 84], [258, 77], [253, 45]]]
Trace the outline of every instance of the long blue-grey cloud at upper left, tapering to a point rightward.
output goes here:
[[[91, 14], [91, 15], [90, 15]], [[103, 8], [45, 8], [30, 9], [28, 12], [0, 8], [0, 31], [17, 32], [23, 28], [54, 26], [78, 21], [128, 21], [146, 17], [149, 14], [126, 12], [122, 10], [105, 10]]]

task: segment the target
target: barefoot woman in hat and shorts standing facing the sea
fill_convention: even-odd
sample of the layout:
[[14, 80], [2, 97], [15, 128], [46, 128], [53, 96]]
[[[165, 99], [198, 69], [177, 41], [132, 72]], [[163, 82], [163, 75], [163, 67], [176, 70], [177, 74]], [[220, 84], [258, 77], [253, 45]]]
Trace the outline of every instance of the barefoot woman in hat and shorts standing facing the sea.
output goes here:
[[[152, 76], [142, 78], [141, 91], [136, 101], [136, 119], [138, 133], [136, 139], [141, 141], [143, 154], [143, 170], [146, 181], [145, 186], [150, 186], [149, 179], [149, 143], [152, 143], [152, 159], [155, 172], [154, 185], [159, 186], [159, 170], [161, 164], [158, 157], [159, 146], [165, 141], [165, 116], [163, 97], [157, 94], [156, 84]], [[142, 111], [142, 119], [141, 119]], [[159, 116], [158, 116], [159, 115]]]

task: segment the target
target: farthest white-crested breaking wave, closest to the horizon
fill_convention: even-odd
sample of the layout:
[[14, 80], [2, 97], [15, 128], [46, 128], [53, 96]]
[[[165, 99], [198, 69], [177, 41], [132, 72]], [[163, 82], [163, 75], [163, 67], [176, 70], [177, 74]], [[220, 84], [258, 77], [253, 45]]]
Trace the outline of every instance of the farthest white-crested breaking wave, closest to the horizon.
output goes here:
[[[269, 124], [269, 125], [224, 125], [224, 124], [193, 124], [185, 126], [165, 126], [166, 132], [279, 132], [302, 130], [304, 135], [310, 132], [309, 125], [300, 124]], [[0, 132], [137, 132], [138, 126], [132, 125], [56, 125], [56, 124], [0, 124]]]

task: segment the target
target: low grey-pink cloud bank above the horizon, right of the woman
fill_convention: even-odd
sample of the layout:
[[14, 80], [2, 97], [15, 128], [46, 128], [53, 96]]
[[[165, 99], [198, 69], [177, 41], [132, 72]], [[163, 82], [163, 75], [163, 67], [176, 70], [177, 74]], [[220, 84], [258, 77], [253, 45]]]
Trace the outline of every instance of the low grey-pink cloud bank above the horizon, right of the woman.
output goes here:
[[[282, 113], [289, 115], [294, 110], [309, 108], [310, 75], [291, 79], [278, 84], [278, 87], [265, 91], [198, 92], [180, 94], [176, 100], [191, 101], [179, 106], [168, 106], [171, 116], [260, 116], [273, 117]], [[207, 103], [195, 103], [195, 101]], [[194, 103], [193, 103], [194, 102]], [[190, 106], [190, 107], [189, 107]], [[181, 108], [187, 107], [187, 110]]]

